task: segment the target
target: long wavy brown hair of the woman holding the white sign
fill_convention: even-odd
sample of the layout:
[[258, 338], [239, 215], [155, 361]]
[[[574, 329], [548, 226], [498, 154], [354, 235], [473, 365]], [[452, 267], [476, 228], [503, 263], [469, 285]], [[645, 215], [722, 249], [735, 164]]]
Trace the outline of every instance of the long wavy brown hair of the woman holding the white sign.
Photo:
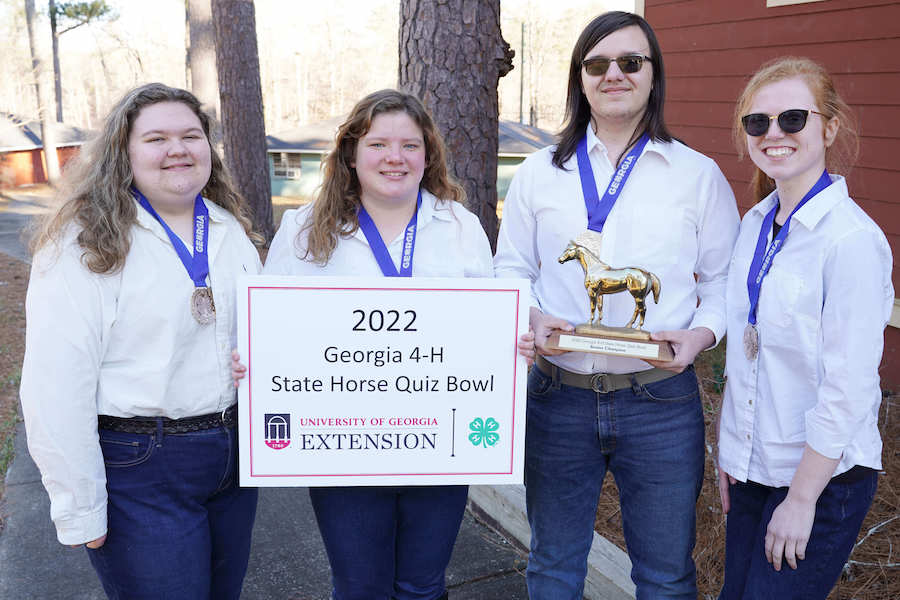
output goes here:
[[360, 185], [356, 169], [356, 147], [383, 113], [403, 112], [422, 130], [425, 140], [425, 173], [421, 186], [441, 200], [465, 202], [466, 193], [447, 171], [447, 150], [431, 114], [412, 94], [397, 90], [373, 92], [357, 102], [335, 135], [334, 148], [323, 163], [323, 183], [316, 195], [312, 214], [301, 227], [294, 244], [304, 245], [302, 258], [324, 265], [337, 247], [339, 237], [349, 237], [359, 227]]

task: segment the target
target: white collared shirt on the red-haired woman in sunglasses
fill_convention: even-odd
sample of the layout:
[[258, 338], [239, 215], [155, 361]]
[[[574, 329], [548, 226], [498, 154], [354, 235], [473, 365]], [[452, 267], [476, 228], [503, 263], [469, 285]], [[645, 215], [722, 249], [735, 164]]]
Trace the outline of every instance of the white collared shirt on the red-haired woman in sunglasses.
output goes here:
[[[791, 218], [763, 279], [759, 354], [744, 355], [747, 273], [775, 194], [744, 216], [728, 273], [728, 382], [719, 466], [740, 481], [787, 486], [808, 443], [854, 465], [881, 468], [878, 365], [894, 304], [891, 250], [847, 195], [843, 177]], [[767, 232], [771, 243], [772, 232]]]

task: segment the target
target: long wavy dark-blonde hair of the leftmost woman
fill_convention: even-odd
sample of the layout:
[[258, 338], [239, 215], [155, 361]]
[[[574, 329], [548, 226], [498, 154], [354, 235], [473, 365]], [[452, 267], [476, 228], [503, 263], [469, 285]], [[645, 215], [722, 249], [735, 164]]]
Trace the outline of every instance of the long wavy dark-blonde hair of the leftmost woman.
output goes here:
[[[74, 225], [78, 245], [84, 250], [82, 262], [88, 269], [114, 273], [122, 268], [131, 248], [131, 226], [137, 220], [130, 191], [133, 174], [128, 137], [141, 110], [160, 102], [180, 102], [190, 108], [200, 120], [207, 141], [211, 139], [211, 119], [190, 92], [161, 83], [129, 91], [113, 106], [97, 137], [67, 165], [58, 195], [61, 204], [38, 223], [31, 240], [32, 252], [59, 242]], [[202, 195], [234, 215], [247, 235], [259, 243], [261, 238], [253, 232], [246, 203], [212, 144], [210, 160], [212, 169]]]

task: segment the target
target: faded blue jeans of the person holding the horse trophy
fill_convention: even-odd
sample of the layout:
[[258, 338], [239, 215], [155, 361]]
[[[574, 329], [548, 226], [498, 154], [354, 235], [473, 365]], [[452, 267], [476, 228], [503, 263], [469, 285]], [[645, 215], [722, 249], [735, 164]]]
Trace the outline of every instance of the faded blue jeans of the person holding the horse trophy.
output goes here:
[[637, 598], [696, 598], [691, 552], [703, 460], [693, 368], [606, 394], [559, 384], [533, 368], [525, 435], [529, 597], [581, 600], [609, 469]]

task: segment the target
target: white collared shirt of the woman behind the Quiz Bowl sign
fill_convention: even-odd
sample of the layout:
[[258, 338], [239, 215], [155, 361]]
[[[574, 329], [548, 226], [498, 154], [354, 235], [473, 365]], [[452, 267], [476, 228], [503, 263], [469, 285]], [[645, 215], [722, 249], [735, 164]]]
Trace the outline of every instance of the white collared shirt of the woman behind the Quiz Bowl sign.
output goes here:
[[[361, 229], [349, 238], [338, 238], [337, 247], [325, 265], [303, 260], [306, 233], [300, 247], [297, 233], [312, 212], [312, 204], [289, 210], [272, 240], [266, 266], [267, 275], [359, 275], [381, 276], [381, 268]], [[422, 206], [416, 219], [416, 246], [413, 277], [493, 277], [491, 246], [478, 218], [458, 202], [439, 201], [422, 190]], [[394, 266], [400, 265], [404, 231], [390, 244], [388, 253]]]

